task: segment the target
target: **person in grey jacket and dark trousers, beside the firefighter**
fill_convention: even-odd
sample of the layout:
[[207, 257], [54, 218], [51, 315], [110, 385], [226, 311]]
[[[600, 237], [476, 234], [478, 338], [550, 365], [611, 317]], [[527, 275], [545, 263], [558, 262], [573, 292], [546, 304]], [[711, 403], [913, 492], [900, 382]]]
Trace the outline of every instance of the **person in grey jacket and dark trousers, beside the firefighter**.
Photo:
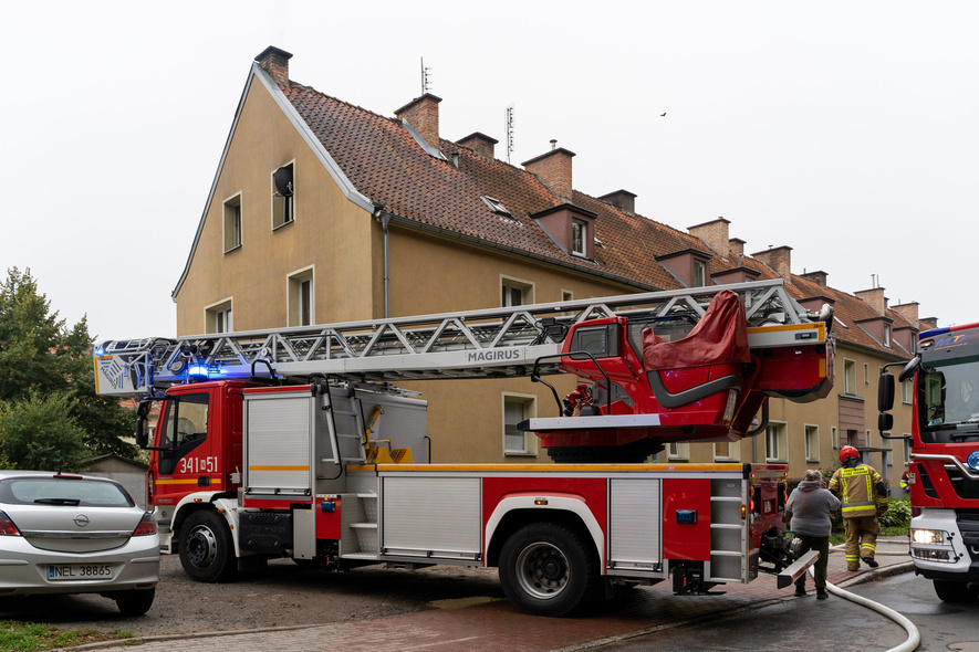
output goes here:
[[[785, 512], [792, 519], [792, 530], [802, 541], [799, 554], [819, 550], [820, 560], [813, 566], [815, 572], [816, 598], [825, 600], [826, 564], [830, 560], [830, 533], [833, 529], [832, 513], [840, 508], [840, 498], [823, 486], [823, 474], [810, 469], [802, 482], [789, 496]], [[795, 580], [795, 595], [805, 596], [805, 574]]]

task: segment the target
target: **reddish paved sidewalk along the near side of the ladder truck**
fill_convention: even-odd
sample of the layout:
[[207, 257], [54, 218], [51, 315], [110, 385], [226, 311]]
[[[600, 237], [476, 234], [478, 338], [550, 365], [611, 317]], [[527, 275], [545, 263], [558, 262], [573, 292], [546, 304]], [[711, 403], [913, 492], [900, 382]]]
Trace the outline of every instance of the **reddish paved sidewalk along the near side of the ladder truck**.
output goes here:
[[[906, 537], [877, 540], [878, 568], [861, 562], [857, 571], [846, 570], [843, 546], [830, 549], [829, 581], [844, 588], [878, 577], [908, 572]], [[808, 581], [812, 587], [812, 578]], [[792, 588], [778, 589], [775, 577], [763, 575], [750, 585], [725, 585], [710, 596], [674, 596], [671, 582], [634, 589], [629, 595], [594, 616], [540, 618], [517, 612], [509, 602], [497, 600], [457, 609], [433, 609], [363, 622], [343, 622], [296, 629], [215, 632], [194, 637], [147, 637], [111, 644], [93, 643], [69, 650], [108, 650], [140, 643], [140, 652], [405, 652], [413, 649], [440, 650], [586, 650], [618, 640], [626, 634], [677, 627], [742, 609], [753, 609], [782, 600], [796, 600]]]

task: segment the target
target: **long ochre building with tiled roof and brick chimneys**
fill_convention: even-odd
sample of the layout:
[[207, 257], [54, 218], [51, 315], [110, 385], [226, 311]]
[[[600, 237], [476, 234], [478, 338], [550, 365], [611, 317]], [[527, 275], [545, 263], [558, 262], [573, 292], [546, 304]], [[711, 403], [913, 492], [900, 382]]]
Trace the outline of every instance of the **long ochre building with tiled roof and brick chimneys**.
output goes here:
[[[781, 277], [805, 307], [834, 304], [837, 390], [841, 366], [850, 369], [851, 361], [857, 378], [864, 368], [869, 374], [865, 386], [820, 403], [773, 399], [771, 434], [677, 444], [660, 459], [778, 460], [801, 475], [829, 466], [844, 439], [881, 448], [867, 434], [876, 410], [865, 403], [879, 367], [913, 351], [885, 341], [882, 327], [903, 335], [918, 328], [916, 314], [886, 306], [883, 290], [862, 298], [827, 287], [824, 274], [793, 275], [788, 246], [746, 255], [722, 218], [681, 231], [637, 214], [636, 194], [627, 190], [597, 198], [574, 190], [575, 155], [553, 141], [518, 167], [498, 160], [497, 140], [481, 132], [448, 140], [439, 133], [440, 99], [431, 94], [394, 117], [330, 97], [290, 80], [290, 57], [269, 48], [251, 67], [174, 290], [180, 335]], [[866, 301], [877, 291], [879, 309]], [[558, 389], [574, 385], [562, 378]], [[540, 385], [406, 386], [429, 401], [433, 462], [546, 461], [535, 438], [514, 428], [529, 417], [558, 416]], [[864, 408], [863, 422], [851, 403]], [[895, 418], [909, 423], [909, 413]]]

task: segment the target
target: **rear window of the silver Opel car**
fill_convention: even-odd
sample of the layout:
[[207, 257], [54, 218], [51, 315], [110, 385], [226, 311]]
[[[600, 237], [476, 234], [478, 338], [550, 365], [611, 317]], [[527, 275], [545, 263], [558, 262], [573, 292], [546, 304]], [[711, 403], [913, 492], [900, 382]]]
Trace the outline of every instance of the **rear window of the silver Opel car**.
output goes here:
[[0, 481], [0, 503], [81, 507], [135, 505], [126, 490], [117, 484], [59, 477], [12, 477]]

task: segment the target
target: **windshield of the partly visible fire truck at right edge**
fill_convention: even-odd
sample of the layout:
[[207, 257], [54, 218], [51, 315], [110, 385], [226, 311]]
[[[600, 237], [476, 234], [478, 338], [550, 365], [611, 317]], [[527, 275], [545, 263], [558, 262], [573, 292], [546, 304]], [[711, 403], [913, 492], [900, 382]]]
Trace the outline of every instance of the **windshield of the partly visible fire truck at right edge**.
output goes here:
[[918, 398], [923, 431], [979, 428], [979, 356], [923, 365]]

